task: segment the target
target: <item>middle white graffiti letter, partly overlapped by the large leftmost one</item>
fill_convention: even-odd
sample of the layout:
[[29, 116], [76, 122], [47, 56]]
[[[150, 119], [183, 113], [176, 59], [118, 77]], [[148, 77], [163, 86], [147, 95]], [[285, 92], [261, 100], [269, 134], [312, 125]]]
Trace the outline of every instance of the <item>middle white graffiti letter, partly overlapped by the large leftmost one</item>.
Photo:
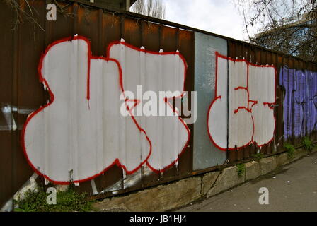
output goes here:
[[[139, 114], [134, 117], [151, 141], [152, 152], [147, 165], [155, 172], [162, 172], [178, 161], [190, 137], [188, 126], [177, 113], [173, 114], [171, 103], [169, 103], [173, 97], [181, 97], [184, 91], [187, 69], [185, 59], [179, 52], [146, 52], [144, 48], [135, 48], [123, 41], [110, 45], [109, 57], [120, 62], [124, 90], [137, 93], [137, 88], [142, 85], [143, 92], [159, 93], [158, 117], [138, 116]], [[142, 100], [137, 98], [137, 100], [127, 101], [136, 102], [136, 108], [142, 110], [142, 105], [139, 105]], [[165, 109], [167, 115], [173, 115], [173, 117], [163, 114]]]

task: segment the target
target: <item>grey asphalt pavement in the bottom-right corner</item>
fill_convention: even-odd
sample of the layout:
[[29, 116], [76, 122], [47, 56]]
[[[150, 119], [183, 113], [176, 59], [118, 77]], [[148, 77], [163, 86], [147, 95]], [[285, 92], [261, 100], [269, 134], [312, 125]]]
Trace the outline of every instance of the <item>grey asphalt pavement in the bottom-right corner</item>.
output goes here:
[[[260, 190], [261, 188], [264, 189]], [[317, 153], [307, 155], [278, 171], [177, 211], [316, 212]]]

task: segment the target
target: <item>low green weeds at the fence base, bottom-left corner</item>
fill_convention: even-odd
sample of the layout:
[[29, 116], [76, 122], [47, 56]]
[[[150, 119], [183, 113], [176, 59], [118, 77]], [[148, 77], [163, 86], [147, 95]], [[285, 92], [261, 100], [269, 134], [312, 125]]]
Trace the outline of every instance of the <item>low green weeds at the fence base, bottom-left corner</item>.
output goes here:
[[79, 194], [73, 186], [69, 186], [66, 191], [57, 191], [57, 203], [47, 204], [47, 196], [44, 188], [39, 187], [37, 191], [26, 191], [25, 198], [16, 201], [18, 212], [86, 212], [92, 210], [91, 202], [87, 201], [86, 194]]

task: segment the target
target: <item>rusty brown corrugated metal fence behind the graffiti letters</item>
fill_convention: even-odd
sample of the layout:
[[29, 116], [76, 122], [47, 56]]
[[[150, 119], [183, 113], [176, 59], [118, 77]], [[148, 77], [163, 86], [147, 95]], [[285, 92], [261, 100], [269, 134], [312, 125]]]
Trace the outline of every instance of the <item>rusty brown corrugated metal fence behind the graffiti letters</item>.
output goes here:
[[[29, 10], [25, 1], [19, 1], [19, 3], [25, 11]], [[34, 173], [25, 160], [21, 149], [21, 130], [28, 114], [50, 100], [49, 93], [43, 89], [42, 84], [38, 81], [37, 70], [42, 52], [56, 40], [76, 34], [82, 35], [91, 42], [92, 54], [103, 57], [106, 57], [108, 45], [121, 38], [134, 47], [145, 47], [146, 50], [152, 52], [159, 52], [160, 49], [163, 49], [164, 52], [179, 51], [188, 64], [185, 79], [186, 91], [203, 90], [203, 85], [206, 84], [205, 81], [201, 81], [200, 84], [200, 81], [197, 80], [197, 78], [205, 76], [200, 74], [198, 68], [201, 68], [200, 63], [202, 61], [197, 57], [202, 54], [206, 59], [209, 55], [198, 52], [197, 49], [207, 42], [211, 49], [215, 47], [217, 52], [227, 57], [245, 59], [253, 64], [274, 65], [277, 70], [274, 107], [275, 135], [271, 143], [260, 149], [250, 144], [239, 150], [227, 150], [226, 152], [217, 150], [209, 141], [205, 118], [203, 119], [203, 117], [207, 117], [208, 106], [202, 107], [202, 104], [200, 105], [201, 102], [205, 106], [214, 98], [212, 97], [213, 93], [208, 97], [209, 93], [214, 90], [215, 85], [215, 83], [210, 83], [209, 88], [197, 95], [197, 111], [202, 111], [202, 116], [197, 119], [197, 124], [188, 124], [190, 140], [184, 153], [180, 155], [177, 165], [173, 165], [159, 174], [142, 167], [135, 174], [126, 178], [122, 169], [114, 165], [107, 172], [96, 177], [93, 182], [83, 182], [76, 187], [79, 191], [86, 191], [91, 196], [95, 195], [94, 198], [144, 189], [183, 177], [190, 177], [192, 174], [211, 171], [221, 167], [221, 165], [228, 164], [228, 162], [233, 164], [248, 160], [258, 151], [265, 155], [284, 151], [285, 88], [279, 85], [279, 73], [285, 66], [295, 70], [317, 71], [315, 64], [248, 43], [163, 20], [137, 16], [134, 13], [122, 13], [106, 8], [98, 8], [91, 6], [92, 4], [86, 1], [71, 1], [68, 3], [69, 5], [60, 2], [59, 4], [65, 6], [65, 8], [63, 14], [58, 13], [57, 21], [46, 20], [46, 5], [51, 1], [38, 0], [29, 3], [33, 12], [36, 12], [35, 18], [38, 25], [24, 20], [23, 23], [16, 24], [14, 29], [16, 12], [4, 4], [3, 1], [0, 4], [1, 206]], [[205, 35], [205, 37], [202, 37], [202, 35]], [[203, 46], [202, 48], [209, 51], [207, 47], [204, 48]], [[204, 66], [206, 66], [206, 70], [212, 70], [212, 74], [215, 70], [214, 57], [210, 59], [213, 59], [213, 62], [210, 64], [207, 62]], [[211, 76], [214, 78], [214, 74]], [[189, 105], [192, 105], [192, 103], [189, 102]], [[201, 126], [205, 127], [201, 128]], [[197, 133], [197, 137], [195, 133]], [[309, 133], [309, 136], [316, 140], [316, 128]], [[289, 136], [287, 139], [294, 145], [301, 145], [301, 137]], [[209, 150], [212, 151], [209, 152]], [[204, 162], [206, 158], [209, 160], [212, 158], [212, 160]], [[42, 177], [38, 177], [37, 182], [44, 184]]]

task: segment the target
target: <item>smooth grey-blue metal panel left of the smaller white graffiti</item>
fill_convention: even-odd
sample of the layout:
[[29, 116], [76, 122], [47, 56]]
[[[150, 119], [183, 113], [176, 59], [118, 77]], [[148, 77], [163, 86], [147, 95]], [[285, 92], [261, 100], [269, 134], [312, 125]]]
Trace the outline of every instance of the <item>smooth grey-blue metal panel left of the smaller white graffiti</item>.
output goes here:
[[226, 161], [226, 152], [212, 144], [207, 131], [207, 113], [209, 105], [214, 100], [216, 85], [215, 52], [227, 55], [226, 40], [195, 32], [195, 91], [197, 91], [193, 159], [195, 170], [222, 165]]

